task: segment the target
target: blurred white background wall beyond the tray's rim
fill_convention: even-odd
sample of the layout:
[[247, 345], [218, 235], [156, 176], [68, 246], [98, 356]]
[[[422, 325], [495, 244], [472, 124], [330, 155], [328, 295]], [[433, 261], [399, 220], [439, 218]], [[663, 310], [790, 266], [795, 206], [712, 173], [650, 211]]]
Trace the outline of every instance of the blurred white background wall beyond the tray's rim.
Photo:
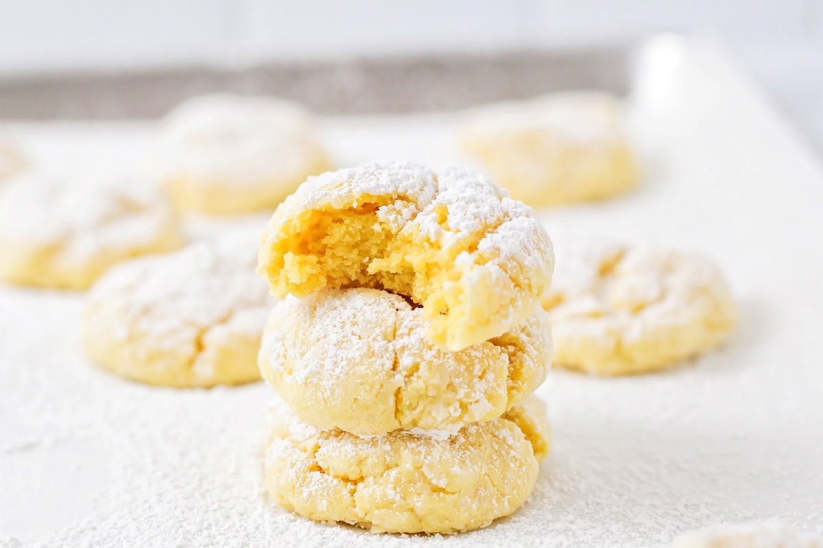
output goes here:
[[0, 77], [717, 36], [823, 150], [823, 0], [0, 0]]

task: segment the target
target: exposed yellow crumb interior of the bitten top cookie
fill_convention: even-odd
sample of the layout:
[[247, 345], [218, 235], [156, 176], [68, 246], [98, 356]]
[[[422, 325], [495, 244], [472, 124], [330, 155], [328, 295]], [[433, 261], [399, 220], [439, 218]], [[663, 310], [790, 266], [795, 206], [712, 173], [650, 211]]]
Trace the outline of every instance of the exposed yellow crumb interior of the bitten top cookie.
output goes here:
[[[322, 288], [376, 288], [409, 297], [423, 306], [429, 335], [451, 350], [495, 335], [488, 299], [471, 298], [481, 281], [467, 283], [468, 267], [491, 257], [477, 252], [484, 236], [460, 233], [458, 245], [441, 246], [414, 223], [398, 231], [398, 215], [412, 207], [393, 196], [365, 197], [344, 210], [305, 210], [263, 250], [263, 269], [276, 297], [305, 297]], [[448, 228], [443, 206], [441, 226]], [[453, 242], [452, 242], [453, 243]], [[471, 259], [456, 265], [464, 251]], [[478, 325], [485, 321], [489, 325]]]

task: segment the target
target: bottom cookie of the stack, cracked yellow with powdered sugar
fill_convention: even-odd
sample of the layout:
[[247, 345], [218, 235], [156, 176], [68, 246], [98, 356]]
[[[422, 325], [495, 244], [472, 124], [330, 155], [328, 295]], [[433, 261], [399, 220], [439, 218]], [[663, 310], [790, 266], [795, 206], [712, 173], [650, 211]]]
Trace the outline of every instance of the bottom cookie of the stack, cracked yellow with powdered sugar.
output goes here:
[[545, 408], [533, 396], [456, 435], [321, 430], [280, 402], [267, 443], [266, 485], [278, 504], [318, 521], [373, 532], [461, 532], [526, 501], [549, 438]]

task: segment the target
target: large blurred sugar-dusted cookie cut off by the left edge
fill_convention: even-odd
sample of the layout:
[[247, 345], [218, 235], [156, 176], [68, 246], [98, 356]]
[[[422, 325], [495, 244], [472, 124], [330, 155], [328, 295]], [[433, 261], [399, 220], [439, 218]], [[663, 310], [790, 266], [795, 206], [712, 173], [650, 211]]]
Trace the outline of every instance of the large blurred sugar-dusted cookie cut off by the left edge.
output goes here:
[[5, 183], [0, 279], [85, 289], [115, 263], [183, 244], [174, 211], [149, 182], [115, 182], [123, 184], [77, 184], [28, 172]]

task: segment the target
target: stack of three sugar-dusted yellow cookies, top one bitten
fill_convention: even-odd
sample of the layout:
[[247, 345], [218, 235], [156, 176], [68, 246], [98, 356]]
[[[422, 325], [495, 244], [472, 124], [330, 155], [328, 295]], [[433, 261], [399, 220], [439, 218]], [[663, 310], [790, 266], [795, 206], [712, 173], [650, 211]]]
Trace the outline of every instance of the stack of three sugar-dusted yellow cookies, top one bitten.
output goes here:
[[472, 171], [373, 163], [305, 182], [259, 257], [286, 297], [259, 357], [285, 403], [272, 497], [378, 532], [466, 531], [518, 509], [549, 447], [530, 394], [551, 360], [553, 263], [531, 210]]

